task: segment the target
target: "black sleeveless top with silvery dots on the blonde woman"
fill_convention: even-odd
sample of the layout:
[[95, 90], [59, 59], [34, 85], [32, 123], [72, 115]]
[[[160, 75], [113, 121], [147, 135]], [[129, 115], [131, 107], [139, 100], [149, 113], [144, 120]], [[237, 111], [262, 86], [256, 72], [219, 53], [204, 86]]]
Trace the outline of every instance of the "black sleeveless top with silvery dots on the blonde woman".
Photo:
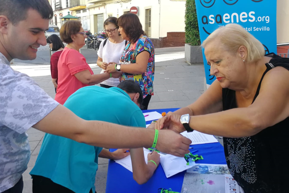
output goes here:
[[[281, 66], [289, 70], [289, 58], [281, 58], [274, 53], [266, 56], [272, 59], [265, 64], [267, 69], [253, 102], [259, 94], [264, 75], [270, 69]], [[234, 108], [237, 108], [235, 91], [223, 89], [223, 110]], [[245, 193], [289, 192], [289, 117], [256, 135], [223, 139], [229, 171]]]

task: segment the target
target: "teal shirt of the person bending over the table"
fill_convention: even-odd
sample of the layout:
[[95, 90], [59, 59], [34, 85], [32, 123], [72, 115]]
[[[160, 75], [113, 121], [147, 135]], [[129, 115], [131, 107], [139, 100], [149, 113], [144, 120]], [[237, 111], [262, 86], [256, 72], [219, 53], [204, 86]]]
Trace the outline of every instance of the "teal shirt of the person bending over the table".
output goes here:
[[[85, 120], [146, 126], [140, 108], [131, 101], [127, 93], [116, 87], [81, 88], [66, 100], [64, 106]], [[30, 175], [47, 177], [76, 193], [88, 193], [90, 189], [95, 192], [95, 175], [98, 169], [98, 154], [101, 150], [101, 147], [45, 134]]]

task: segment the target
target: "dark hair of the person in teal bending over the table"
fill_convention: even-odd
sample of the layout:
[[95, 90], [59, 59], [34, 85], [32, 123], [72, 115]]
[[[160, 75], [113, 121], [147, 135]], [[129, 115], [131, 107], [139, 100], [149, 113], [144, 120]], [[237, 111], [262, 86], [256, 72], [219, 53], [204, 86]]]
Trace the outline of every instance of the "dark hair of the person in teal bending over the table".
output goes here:
[[118, 88], [126, 91], [127, 93], [140, 93], [140, 97], [138, 98], [138, 103], [142, 106], [143, 95], [142, 89], [140, 85], [134, 80], [124, 80], [123, 82], [117, 85]]

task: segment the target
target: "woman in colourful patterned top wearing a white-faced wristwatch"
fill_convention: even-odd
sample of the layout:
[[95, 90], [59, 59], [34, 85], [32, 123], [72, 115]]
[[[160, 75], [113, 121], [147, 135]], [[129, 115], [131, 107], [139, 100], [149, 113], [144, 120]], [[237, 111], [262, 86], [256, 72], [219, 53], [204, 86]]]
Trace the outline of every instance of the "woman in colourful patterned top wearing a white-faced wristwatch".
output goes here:
[[[117, 20], [118, 32], [124, 40], [129, 41], [120, 58], [120, 64], [111, 62], [105, 72], [122, 71], [120, 81], [138, 82], [143, 93], [143, 109], [147, 109], [153, 95], [153, 78], [155, 72], [155, 49], [153, 43], [142, 30], [142, 24], [136, 14], [127, 13]], [[146, 51], [146, 52], [143, 52]]]

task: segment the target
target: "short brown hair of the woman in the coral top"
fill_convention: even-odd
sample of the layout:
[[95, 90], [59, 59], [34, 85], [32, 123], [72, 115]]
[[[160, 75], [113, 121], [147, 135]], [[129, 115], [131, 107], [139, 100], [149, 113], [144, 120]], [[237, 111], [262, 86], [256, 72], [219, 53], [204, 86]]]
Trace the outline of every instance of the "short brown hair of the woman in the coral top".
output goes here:
[[66, 21], [60, 28], [60, 38], [67, 44], [73, 42], [71, 35], [77, 34], [81, 27], [82, 25], [79, 20]]

